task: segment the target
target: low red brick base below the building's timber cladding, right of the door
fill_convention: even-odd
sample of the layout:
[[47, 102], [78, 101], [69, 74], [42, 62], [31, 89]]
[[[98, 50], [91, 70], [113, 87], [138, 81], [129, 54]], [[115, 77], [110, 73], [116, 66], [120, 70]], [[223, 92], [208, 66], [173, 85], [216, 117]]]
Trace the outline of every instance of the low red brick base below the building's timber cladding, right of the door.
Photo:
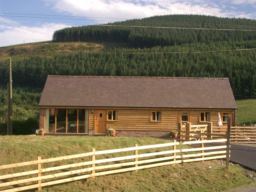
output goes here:
[[170, 131], [133, 131], [133, 130], [117, 130], [116, 136], [127, 137], [170, 137]]

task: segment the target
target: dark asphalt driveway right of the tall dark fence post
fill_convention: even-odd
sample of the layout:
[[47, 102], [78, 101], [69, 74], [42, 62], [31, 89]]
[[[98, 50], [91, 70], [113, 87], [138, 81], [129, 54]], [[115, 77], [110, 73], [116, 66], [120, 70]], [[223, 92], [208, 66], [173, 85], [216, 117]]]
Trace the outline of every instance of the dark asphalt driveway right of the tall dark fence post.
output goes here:
[[230, 161], [256, 171], [256, 147], [230, 144]]

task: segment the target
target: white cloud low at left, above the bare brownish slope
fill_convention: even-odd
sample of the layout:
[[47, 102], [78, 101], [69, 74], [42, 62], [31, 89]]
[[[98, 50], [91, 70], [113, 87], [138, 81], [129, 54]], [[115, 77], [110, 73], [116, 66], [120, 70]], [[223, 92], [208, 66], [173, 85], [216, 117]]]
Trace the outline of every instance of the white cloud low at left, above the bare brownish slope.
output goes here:
[[38, 24], [29, 27], [1, 17], [0, 22], [0, 47], [24, 42], [48, 41], [52, 39], [55, 30], [69, 27], [64, 24]]

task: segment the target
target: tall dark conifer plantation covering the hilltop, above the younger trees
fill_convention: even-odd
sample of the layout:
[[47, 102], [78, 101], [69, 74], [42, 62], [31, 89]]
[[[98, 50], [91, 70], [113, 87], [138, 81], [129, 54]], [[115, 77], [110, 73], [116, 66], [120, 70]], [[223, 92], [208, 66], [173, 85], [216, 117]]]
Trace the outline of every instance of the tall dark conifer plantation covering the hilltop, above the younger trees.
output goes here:
[[[149, 48], [184, 43], [208, 44], [217, 41], [247, 41], [254, 40], [256, 37], [254, 31], [236, 31], [237, 29], [255, 29], [255, 20], [205, 15], [162, 15], [107, 23], [107, 25], [111, 26], [82, 26], [57, 30], [53, 34], [53, 41], [122, 42], [128, 43], [130, 48]], [[228, 30], [195, 30], [191, 28]]]

